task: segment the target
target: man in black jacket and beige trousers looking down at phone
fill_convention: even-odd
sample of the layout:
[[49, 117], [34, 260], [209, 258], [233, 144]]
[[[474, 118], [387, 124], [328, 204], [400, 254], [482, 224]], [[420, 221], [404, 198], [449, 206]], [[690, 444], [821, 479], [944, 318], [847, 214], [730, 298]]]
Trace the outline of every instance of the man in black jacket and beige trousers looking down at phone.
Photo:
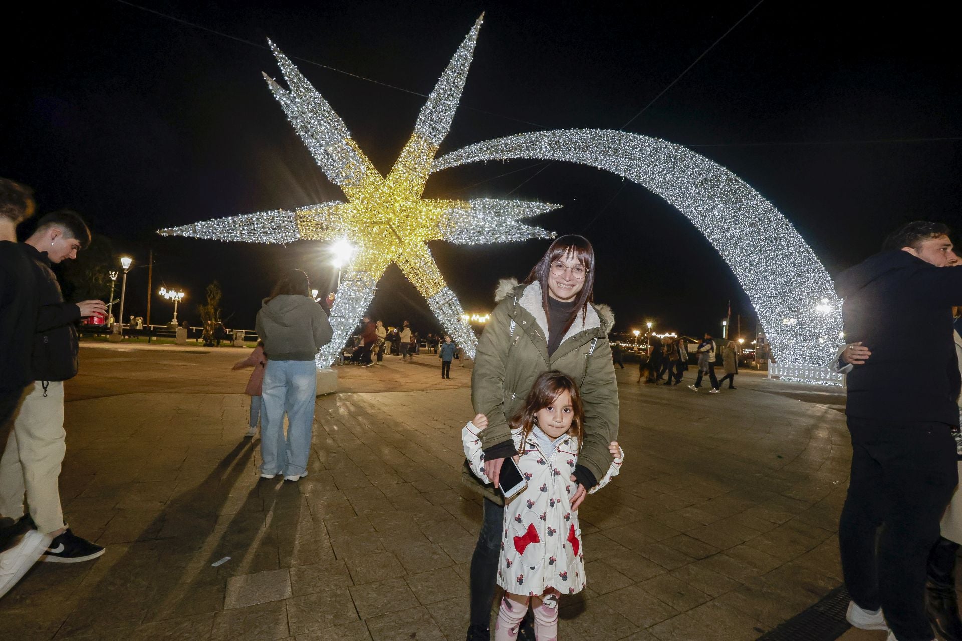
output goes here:
[[3, 456], [0, 457], [0, 514], [17, 518], [26, 497], [30, 518], [53, 536], [40, 560], [74, 563], [104, 554], [104, 549], [76, 536], [63, 523], [58, 478], [66, 452], [63, 431], [63, 381], [77, 373], [77, 330], [82, 316], [106, 317], [101, 301], [63, 302], [51, 263], [77, 258], [90, 241], [87, 225], [72, 211], [43, 216], [22, 246], [32, 261], [38, 311], [27, 388]]

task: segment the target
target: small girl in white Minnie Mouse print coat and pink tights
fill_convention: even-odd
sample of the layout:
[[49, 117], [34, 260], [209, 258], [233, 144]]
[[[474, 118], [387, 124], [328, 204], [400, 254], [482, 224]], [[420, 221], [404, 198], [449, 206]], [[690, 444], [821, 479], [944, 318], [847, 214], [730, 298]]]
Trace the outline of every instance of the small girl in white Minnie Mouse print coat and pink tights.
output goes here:
[[[558, 636], [558, 596], [585, 587], [584, 551], [578, 513], [571, 509], [577, 489], [570, 475], [584, 439], [584, 411], [577, 384], [558, 371], [545, 372], [531, 385], [523, 409], [511, 419], [511, 435], [520, 453], [515, 462], [527, 481], [504, 508], [504, 533], [497, 584], [504, 598], [494, 625], [494, 641], [516, 638], [530, 601], [535, 637]], [[478, 433], [488, 426], [478, 414], [462, 432], [471, 470], [482, 481], [484, 461]], [[619, 473], [624, 453], [609, 446], [614, 462], [592, 489], [600, 489]]]

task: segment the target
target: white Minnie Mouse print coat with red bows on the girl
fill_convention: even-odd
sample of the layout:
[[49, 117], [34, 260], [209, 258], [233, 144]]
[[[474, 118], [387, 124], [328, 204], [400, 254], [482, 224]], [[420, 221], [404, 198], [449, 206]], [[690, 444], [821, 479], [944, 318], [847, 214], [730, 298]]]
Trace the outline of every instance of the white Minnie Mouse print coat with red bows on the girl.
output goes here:
[[[487, 483], [479, 433], [468, 422], [462, 440], [471, 471]], [[578, 460], [577, 438], [562, 436], [554, 452], [544, 456], [534, 434], [528, 434], [523, 444], [520, 430], [512, 430], [511, 436], [520, 453], [518, 469], [527, 487], [504, 506], [497, 584], [506, 592], [529, 596], [541, 596], [552, 588], [562, 594], [580, 592], [586, 584], [585, 555], [578, 513], [571, 509], [577, 483], [570, 480]], [[624, 451], [619, 454], [589, 493], [618, 475]]]

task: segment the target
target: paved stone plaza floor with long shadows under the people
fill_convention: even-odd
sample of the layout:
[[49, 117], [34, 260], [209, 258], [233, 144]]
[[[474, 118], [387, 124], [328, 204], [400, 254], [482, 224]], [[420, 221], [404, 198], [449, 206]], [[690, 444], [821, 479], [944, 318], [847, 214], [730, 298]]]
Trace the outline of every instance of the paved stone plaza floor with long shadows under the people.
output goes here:
[[[461, 481], [469, 367], [340, 368], [291, 483], [259, 479], [242, 437], [249, 370], [230, 365], [246, 353], [82, 347], [63, 507], [107, 554], [39, 563], [0, 601], [0, 638], [464, 639], [481, 519]], [[618, 376], [626, 459], [581, 508], [588, 588], [563, 598], [562, 638], [750, 641], [841, 584], [840, 390]]]

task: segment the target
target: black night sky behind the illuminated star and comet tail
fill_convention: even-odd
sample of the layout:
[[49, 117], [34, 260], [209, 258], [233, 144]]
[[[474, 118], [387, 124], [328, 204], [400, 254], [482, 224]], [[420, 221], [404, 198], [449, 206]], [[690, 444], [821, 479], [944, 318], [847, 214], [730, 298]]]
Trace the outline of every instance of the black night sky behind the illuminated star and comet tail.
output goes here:
[[[152, 248], [154, 290], [188, 292], [182, 318], [197, 322], [194, 306], [216, 279], [228, 325], [250, 328], [282, 268], [305, 269], [321, 289], [336, 278], [320, 245], [154, 231], [342, 199], [266, 89], [261, 71], [280, 76], [266, 37], [291, 57], [426, 94], [486, 12], [443, 154], [542, 128], [618, 129], [754, 4], [144, 1], [252, 45], [117, 0], [17, 3], [0, 42], [0, 176], [33, 186], [41, 211], [80, 211], [138, 265]], [[691, 145], [727, 166], [788, 217], [833, 275], [903, 221], [957, 227], [962, 143], [915, 140], [962, 136], [956, 25], [923, 5], [879, 7], [768, 0], [628, 131]], [[390, 169], [424, 99], [295, 62], [368, 158]], [[562, 163], [535, 176], [544, 165], [534, 165], [448, 170], [425, 196], [510, 193], [563, 205], [533, 222], [592, 240], [595, 300], [614, 308], [618, 331], [651, 318], [656, 328], [703, 332], [718, 327], [728, 300], [733, 314], [751, 315], [707, 241], [644, 188]], [[523, 278], [546, 246], [438, 242], [432, 251], [465, 308], [483, 312], [497, 279]], [[145, 314], [146, 288], [146, 270], [133, 270], [128, 313]], [[167, 307], [155, 298], [152, 320], [167, 320]], [[433, 329], [396, 267], [372, 311]]]

